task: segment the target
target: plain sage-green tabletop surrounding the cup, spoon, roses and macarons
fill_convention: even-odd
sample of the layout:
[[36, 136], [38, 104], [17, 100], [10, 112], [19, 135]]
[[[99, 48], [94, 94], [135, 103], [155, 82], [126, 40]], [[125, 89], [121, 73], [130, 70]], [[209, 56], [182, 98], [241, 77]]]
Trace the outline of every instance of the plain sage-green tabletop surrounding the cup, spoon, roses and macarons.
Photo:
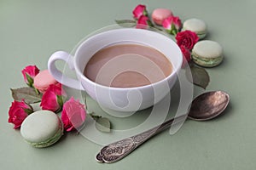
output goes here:
[[[97, 163], [94, 157], [102, 146], [76, 133], [45, 149], [26, 144], [20, 130], [8, 123], [13, 100], [9, 88], [25, 86], [20, 71], [26, 65], [46, 69], [50, 54], [71, 51], [90, 32], [114, 24], [115, 19], [131, 19], [138, 3], [146, 4], [150, 12], [170, 8], [182, 20], [196, 17], [207, 22], [206, 39], [224, 47], [222, 65], [207, 70], [211, 77], [207, 91], [230, 94], [224, 116], [210, 122], [187, 121], [174, 135], [160, 133], [114, 164]], [[255, 0], [1, 0], [0, 168], [255, 169], [255, 7]], [[120, 124], [118, 118], [112, 121]]]

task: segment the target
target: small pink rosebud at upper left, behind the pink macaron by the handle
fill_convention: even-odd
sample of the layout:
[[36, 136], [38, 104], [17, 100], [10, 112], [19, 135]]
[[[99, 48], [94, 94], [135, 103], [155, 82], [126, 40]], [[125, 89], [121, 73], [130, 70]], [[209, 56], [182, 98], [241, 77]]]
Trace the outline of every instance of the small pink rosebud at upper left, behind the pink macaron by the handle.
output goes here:
[[24, 81], [29, 87], [32, 87], [33, 82], [34, 82], [34, 77], [37, 76], [39, 73], [39, 69], [36, 65], [28, 65], [23, 69], [22, 75], [24, 77]]

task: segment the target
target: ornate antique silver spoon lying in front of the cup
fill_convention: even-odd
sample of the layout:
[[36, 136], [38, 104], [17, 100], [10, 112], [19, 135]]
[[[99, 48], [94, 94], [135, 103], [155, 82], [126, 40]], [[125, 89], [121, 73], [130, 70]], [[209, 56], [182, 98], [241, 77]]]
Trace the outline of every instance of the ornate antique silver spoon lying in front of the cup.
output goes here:
[[212, 91], [201, 94], [193, 100], [189, 114], [172, 118], [171, 120], [162, 123], [160, 126], [153, 127], [143, 133], [104, 146], [96, 155], [96, 161], [102, 163], [119, 161], [155, 134], [160, 133], [167, 127], [171, 127], [174, 119], [176, 122], [178, 122], [178, 120], [184, 120], [186, 117], [195, 121], [210, 120], [221, 114], [229, 104], [229, 101], [229, 94], [222, 91]]

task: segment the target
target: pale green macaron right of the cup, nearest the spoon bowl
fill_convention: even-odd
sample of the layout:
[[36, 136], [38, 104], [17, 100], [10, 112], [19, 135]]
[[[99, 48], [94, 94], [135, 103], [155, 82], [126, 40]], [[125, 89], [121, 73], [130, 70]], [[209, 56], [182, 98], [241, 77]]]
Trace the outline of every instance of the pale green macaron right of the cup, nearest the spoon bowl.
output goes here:
[[197, 65], [204, 67], [217, 66], [224, 58], [223, 48], [218, 42], [203, 40], [195, 43], [191, 57]]

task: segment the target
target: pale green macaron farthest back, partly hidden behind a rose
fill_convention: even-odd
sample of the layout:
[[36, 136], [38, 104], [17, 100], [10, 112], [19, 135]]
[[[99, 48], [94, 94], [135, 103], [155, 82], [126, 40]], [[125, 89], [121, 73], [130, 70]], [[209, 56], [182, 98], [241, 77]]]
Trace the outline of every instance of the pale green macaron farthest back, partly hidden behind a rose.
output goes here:
[[207, 36], [207, 24], [203, 20], [189, 19], [183, 22], [183, 31], [189, 30], [194, 31], [199, 39]]

